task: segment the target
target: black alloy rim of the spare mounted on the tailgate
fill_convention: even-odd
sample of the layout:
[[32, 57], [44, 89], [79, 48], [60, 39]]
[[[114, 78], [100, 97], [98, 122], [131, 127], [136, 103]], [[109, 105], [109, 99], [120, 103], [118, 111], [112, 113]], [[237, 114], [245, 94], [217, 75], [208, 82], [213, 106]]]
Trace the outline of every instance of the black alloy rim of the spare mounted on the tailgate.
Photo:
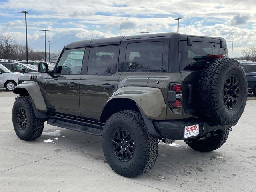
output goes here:
[[227, 109], [232, 110], [236, 107], [239, 97], [239, 82], [235, 75], [230, 75], [224, 84], [223, 100]]

